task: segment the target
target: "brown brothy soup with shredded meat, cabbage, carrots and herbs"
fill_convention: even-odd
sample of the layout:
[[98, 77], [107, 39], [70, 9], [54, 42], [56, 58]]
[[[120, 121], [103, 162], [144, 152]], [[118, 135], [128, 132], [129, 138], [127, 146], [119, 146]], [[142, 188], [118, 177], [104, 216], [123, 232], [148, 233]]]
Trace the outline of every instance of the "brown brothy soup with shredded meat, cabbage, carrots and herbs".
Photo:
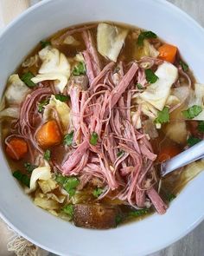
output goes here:
[[89, 23], [41, 41], [10, 75], [2, 147], [35, 205], [76, 226], [111, 228], [169, 202], [202, 161], [160, 164], [203, 138], [204, 86], [152, 31]]

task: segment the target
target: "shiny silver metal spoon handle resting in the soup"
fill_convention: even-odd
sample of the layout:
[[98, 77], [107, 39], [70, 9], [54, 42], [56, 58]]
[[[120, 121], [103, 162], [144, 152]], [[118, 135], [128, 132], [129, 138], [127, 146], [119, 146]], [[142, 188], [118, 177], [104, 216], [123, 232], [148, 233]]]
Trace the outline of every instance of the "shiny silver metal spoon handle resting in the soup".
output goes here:
[[162, 177], [170, 174], [180, 167], [184, 167], [192, 161], [204, 158], [204, 141], [195, 144], [193, 147], [188, 148], [181, 154], [177, 154], [168, 161], [163, 161], [161, 164]]

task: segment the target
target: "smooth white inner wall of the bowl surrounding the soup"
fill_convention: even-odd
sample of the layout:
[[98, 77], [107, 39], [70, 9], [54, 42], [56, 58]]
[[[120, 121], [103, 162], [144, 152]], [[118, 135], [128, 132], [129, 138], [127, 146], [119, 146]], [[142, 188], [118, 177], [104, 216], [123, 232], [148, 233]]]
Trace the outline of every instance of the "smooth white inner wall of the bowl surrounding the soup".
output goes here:
[[[43, 1], [11, 23], [0, 36], [0, 95], [10, 75], [42, 38], [77, 23], [110, 20], [153, 30], [178, 46], [204, 82], [204, 31], [188, 15], [163, 0]], [[179, 131], [178, 131], [179, 132]], [[44, 212], [23, 194], [0, 154], [0, 213], [28, 240], [61, 255], [146, 255], [169, 246], [204, 217], [204, 174], [190, 182], [163, 216], [154, 214], [107, 231], [71, 225]]]

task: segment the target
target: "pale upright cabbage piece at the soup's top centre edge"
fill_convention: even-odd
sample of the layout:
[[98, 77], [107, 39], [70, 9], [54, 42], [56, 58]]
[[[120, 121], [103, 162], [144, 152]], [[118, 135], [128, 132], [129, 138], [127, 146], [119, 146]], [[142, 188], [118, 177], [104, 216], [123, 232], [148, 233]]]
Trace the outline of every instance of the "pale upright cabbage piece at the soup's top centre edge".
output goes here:
[[128, 30], [108, 23], [99, 23], [97, 28], [97, 48], [102, 56], [117, 62], [120, 50], [124, 45]]

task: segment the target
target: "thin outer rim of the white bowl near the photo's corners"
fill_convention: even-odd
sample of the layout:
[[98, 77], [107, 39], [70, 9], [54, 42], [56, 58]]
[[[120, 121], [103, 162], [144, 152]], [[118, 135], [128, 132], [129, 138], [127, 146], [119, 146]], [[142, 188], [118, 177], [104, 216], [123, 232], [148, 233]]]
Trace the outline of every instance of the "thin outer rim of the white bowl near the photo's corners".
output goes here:
[[[171, 8], [171, 10], [174, 10], [175, 12], [177, 12], [178, 14], [181, 14], [183, 17], [185, 17], [186, 20], [188, 20], [188, 22], [192, 23], [194, 25], [194, 27], [196, 27], [198, 30], [201, 31], [201, 33], [204, 35], [204, 28], [201, 26], [200, 23], [198, 23], [197, 21], [194, 20], [194, 18], [190, 15], [188, 15], [184, 10], [180, 9], [179, 7], [175, 6], [175, 4], [170, 3], [168, 0], [151, 0], [153, 2], [157, 2], [158, 4], [165, 4], [166, 6], [169, 6], [169, 8]], [[50, 2], [54, 2], [54, 0], [43, 0], [39, 3], [35, 3], [33, 6], [29, 7], [27, 10], [24, 10], [22, 12], [22, 14], [20, 14], [19, 16], [17, 16], [14, 20], [12, 20], [9, 24], [7, 24], [6, 26], [3, 27], [3, 30], [1, 30], [0, 32], [0, 38], [4, 36], [4, 34], [6, 34], [7, 30], [10, 30], [10, 28], [12, 28], [13, 26], [16, 25], [16, 23], [20, 22], [24, 17], [28, 16], [29, 13], [33, 12], [34, 10], [41, 8], [41, 6], [44, 6]], [[63, 28], [61, 28], [63, 29]], [[199, 177], [196, 177], [194, 179], [198, 179]], [[23, 238], [25, 238], [26, 240], [29, 240], [30, 242], [32, 242], [33, 244], [35, 244], [36, 246], [41, 247], [44, 250], [47, 250], [49, 253], [55, 253], [55, 254], [59, 254], [59, 252], [55, 251], [55, 250], [51, 250], [50, 248], [48, 248], [48, 246], [44, 246], [42, 245], [40, 242], [33, 240], [32, 238], [30, 238], [26, 233], [22, 233], [22, 231], [17, 228], [16, 226], [14, 226], [13, 221], [9, 220], [6, 217], [6, 214], [3, 214], [0, 212], [0, 218], [8, 225], [10, 226], [16, 233], [18, 233], [19, 235], [21, 235]], [[197, 219], [194, 221], [194, 223], [192, 223], [191, 226], [188, 226], [185, 231], [183, 231], [182, 233], [179, 233], [177, 236], [175, 236], [174, 239], [169, 240], [167, 242], [161, 243], [160, 246], [158, 246], [157, 248], [155, 248], [154, 251], [152, 251], [151, 249], [146, 249], [145, 254], [143, 255], [147, 255], [149, 253], [156, 253], [159, 252], [161, 250], [163, 250], [164, 248], [166, 248], [167, 246], [175, 243], [178, 240], [181, 240], [185, 235], [187, 235], [188, 233], [190, 233], [196, 226], [198, 226], [201, 221], [204, 220], [204, 213], [201, 216], [201, 218]], [[70, 255], [71, 254], [59, 254], [59, 255]], [[129, 254], [129, 256], [133, 256], [134, 254]], [[73, 254], [72, 254], [73, 256]]]

